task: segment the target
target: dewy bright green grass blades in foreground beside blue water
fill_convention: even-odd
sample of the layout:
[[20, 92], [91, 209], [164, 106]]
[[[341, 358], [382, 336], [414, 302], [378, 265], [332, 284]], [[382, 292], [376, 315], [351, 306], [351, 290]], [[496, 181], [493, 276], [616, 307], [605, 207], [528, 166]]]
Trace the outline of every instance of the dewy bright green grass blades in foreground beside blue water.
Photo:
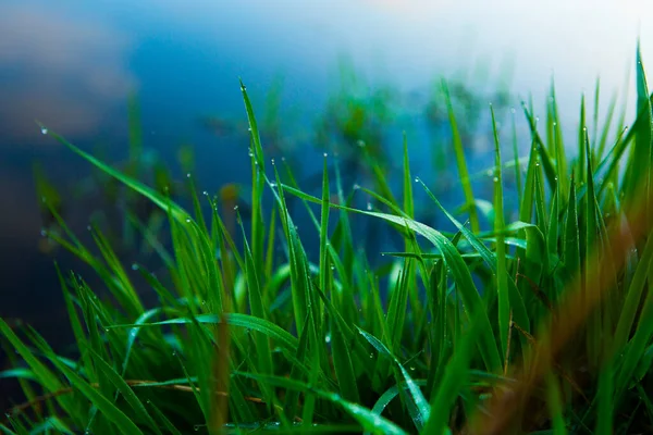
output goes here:
[[[61, 228], [48, 236], [106, 288], [60, 271], [75, 360], [38, 332], [0, 320], [4, 348], [17, 353], [0, 377], [17, 380], [27, 399], [8, 410], [0, 431], [651, 432], [652, 97], [639, 50], [637, 83], [638, 116], [627, 132], [612, 124], [614, 99], [603, 125], [597, 109], [586, 122], [583, 99], [574, 145], [562, 136], [566, 120], [553, 86], [544, 125], [523, 105], [531, 146], [525, 177], [516, 171], [517, 221], [504, 207], [513, 177], [504, 167], [522, 160], [512, 137], [502, 141], [492, 108], [492, 198], [481, 213], [447, 100], [464, 191], [463, 211], [451, 213], [411, 174], [406, 136], [401, 198], [374, 159], [366, 161], [379, 191], [345, 191], [337, 161], [326, 156], [321, 195], [309, 195], [287, 165], [267, 164], [242, 85], [252, 151], [247, 226], [219, 198], [194, 194], [188, 211], [165, 189], [49, 132], [167, 215], [170, 246], [145, 236], [168, 279], [138, 264], [130, 271], [98, 228], [96, 246], [85, 246], [46, 200]], [[443, 90], [448, 97], [444, 83]], [[596, 84], [596, 103], [599, 94]], [[137, 130], [132, 144], [140, 146]], [[455, 233], [416, 221], [419, 190], [429, 201], [422, 208], [441, 213]], [[361, 192], [374, 208], [353, 206]], [[305, 249], [291, 199], [305, 206], [318, 252]], [[404, 251], [371, 268], [381, 252], [358, 249], [354, 214], [383, 221], [403, 237]], [[157, 304], [141, 300], [137, 281], [157, 294]], [[99, 298], [100, 290], [110, 297]]]

